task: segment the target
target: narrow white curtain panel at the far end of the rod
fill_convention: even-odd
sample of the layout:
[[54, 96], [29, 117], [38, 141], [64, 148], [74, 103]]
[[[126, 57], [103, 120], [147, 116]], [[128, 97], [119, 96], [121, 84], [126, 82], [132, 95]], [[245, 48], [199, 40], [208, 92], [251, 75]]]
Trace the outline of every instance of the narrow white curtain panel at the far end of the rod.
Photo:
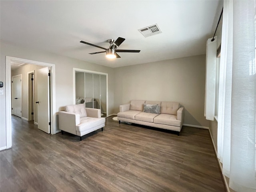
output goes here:
[[216, 54], [217, 37], [207, 40], [206, 43], [206, 78], [205, 78], [205, 98], [204, 116], [207, 120], [214, 120], [216, 111]]

